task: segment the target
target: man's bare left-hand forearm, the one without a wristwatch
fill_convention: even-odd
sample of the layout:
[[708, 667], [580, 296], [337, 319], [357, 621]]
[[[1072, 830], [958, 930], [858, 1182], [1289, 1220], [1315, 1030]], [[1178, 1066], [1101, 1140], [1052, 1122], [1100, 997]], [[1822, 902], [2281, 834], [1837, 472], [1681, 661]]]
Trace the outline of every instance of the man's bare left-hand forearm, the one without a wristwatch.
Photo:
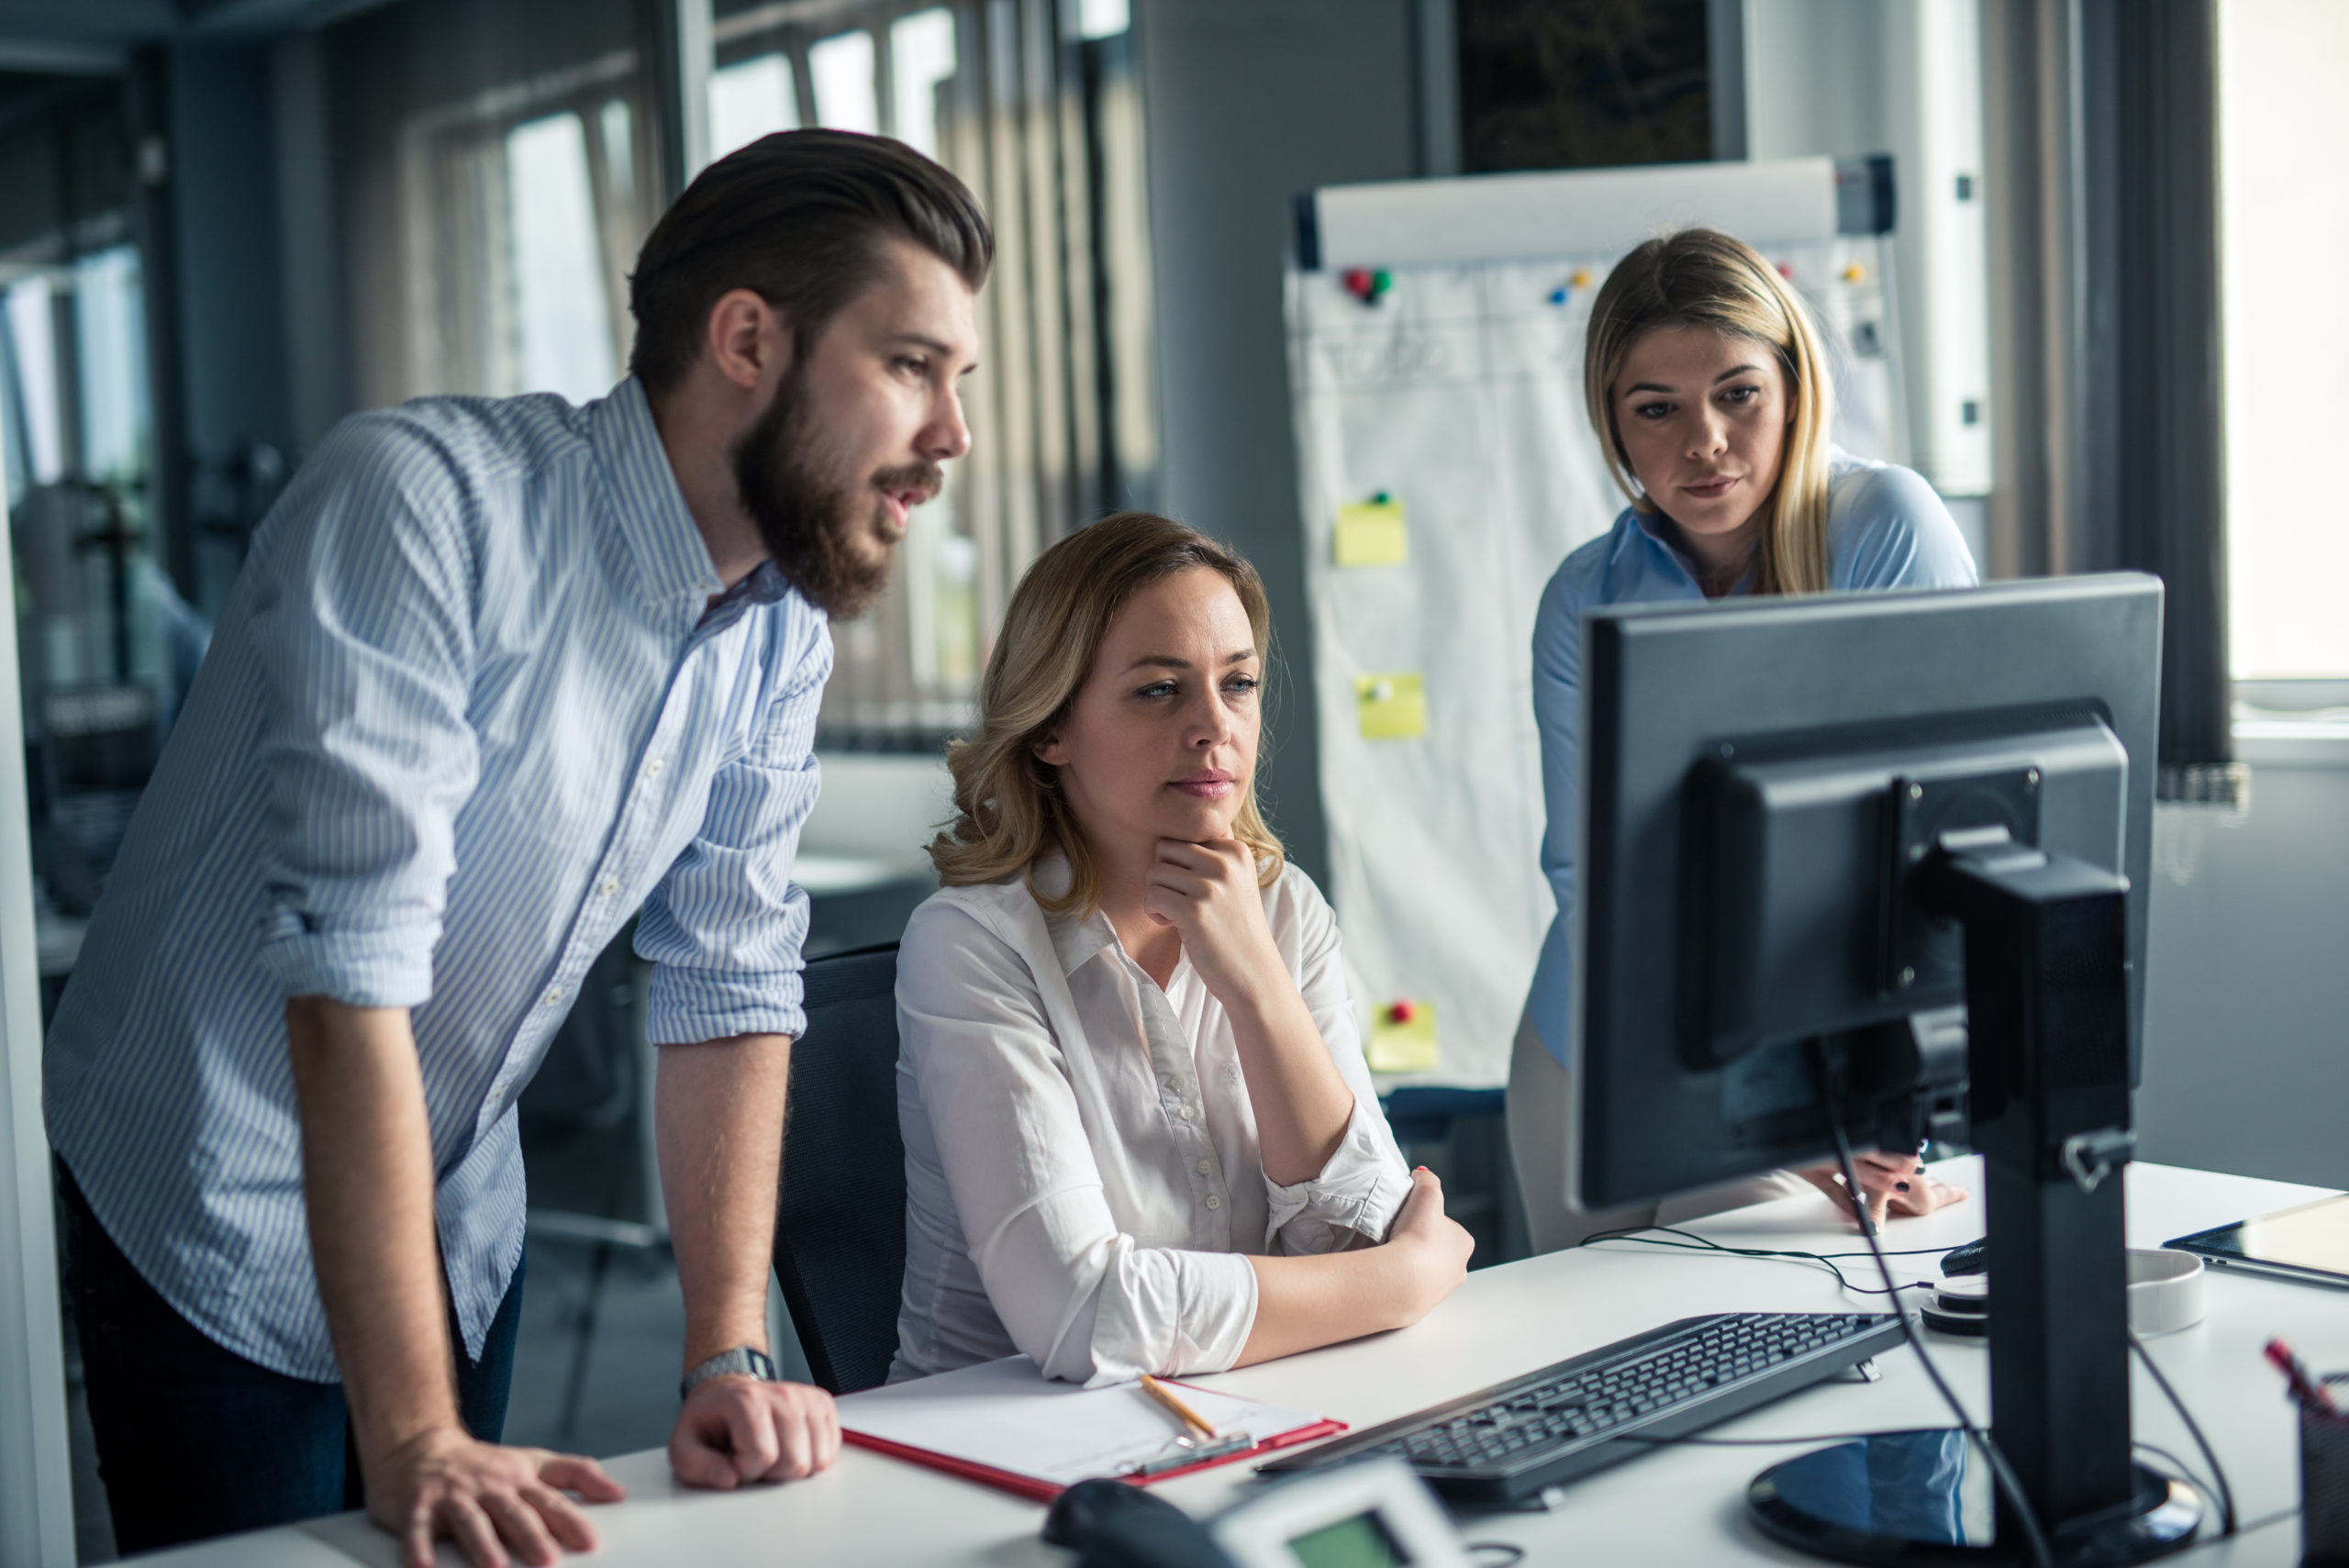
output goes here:
[[456, 1425], [432, 1131], [404, 1007], [287, 1002], [310, 1253], [359, 1453]]

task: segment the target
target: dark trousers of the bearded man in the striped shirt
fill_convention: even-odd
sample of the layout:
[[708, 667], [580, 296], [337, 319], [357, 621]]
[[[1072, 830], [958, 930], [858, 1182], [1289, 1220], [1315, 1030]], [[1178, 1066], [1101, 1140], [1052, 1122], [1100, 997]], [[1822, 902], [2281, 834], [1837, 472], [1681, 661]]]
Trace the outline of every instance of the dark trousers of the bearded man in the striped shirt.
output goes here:
[[[287, 1378], [214, 1345], [132, 1268], [63, 1162], [56, 1190], [115, 1549], [129, 1556], [359, 1507], [343, 1385]], [[458, 1415], [489, 1441], [505, 1432], [519, 1322], [514, 1268], [479, 1361], [449, 1324]]]

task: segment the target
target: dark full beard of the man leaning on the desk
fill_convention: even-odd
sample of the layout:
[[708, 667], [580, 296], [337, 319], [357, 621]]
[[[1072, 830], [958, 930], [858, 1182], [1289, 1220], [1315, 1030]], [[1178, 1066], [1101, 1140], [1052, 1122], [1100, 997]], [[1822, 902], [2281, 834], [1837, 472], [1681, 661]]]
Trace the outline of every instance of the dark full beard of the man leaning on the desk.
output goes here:
[[735, 488], [775, 570], [832, 620], [855, 620], [888, 587], [897, 554], [881, 493], [935, 495], [944, 472], [918, 462], [855, 484], [834, 477], [824, 448], [806, 376], [794, 369], [759, 423], [735, 441]]

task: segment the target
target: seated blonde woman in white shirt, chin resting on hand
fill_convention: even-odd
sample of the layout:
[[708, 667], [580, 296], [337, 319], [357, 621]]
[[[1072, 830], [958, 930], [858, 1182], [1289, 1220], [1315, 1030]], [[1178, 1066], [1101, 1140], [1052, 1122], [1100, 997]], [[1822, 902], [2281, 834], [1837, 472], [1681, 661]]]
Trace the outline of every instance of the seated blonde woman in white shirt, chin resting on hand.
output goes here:
[[1337, 920], [1257, 815], [1254, 568], [1163, 516], [1029, 568], [897, 955], [893, 1378], [1210, 1373], [1419, 1322], [1470, 1239], [1362, 1066]]

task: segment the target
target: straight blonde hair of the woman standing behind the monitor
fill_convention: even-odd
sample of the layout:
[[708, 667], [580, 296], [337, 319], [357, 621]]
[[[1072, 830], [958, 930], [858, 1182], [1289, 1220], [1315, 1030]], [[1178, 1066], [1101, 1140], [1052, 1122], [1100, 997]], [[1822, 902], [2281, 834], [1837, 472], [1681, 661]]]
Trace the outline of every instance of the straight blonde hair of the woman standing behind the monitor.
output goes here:
[[1828, 587], [1828, 432], [1835, 380], [1818, 329], [1778, 270], [1743, 239], [1717, 228], [1684, 228], [1649, 239], [1616, 263], [1590, 305], [1583, 347], [1583, 399], [1630, 505], [1656, 512], [1630, 472], [1616, 425], [1614, 385], [1633, 345], [1670, 326], [1710, 326], [1729, 338], [1764, 343], [1778, 354], [1795, 420], [1788, 427], [1778, 484], [1762, 502], [1769, 516], [1755, 542], [1755, 594], [1818, 594]]

